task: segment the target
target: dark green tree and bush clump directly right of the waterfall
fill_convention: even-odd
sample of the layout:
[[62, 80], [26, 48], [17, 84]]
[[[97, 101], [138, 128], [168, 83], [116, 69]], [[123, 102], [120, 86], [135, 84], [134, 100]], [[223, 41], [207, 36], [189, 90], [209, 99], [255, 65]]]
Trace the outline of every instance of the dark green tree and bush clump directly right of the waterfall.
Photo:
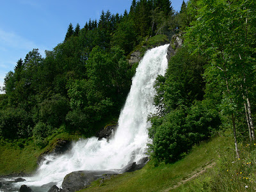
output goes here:
[[188, 150], [207, 140], [220, 126], [218, 111], [204, 99], [205, 61], [179, 49], [168, 65], [165, 76], [157, 77], [154, 102], [157, 114], [150, 117], [152, 139], [149, 150], [157, 161], [177, 161]]

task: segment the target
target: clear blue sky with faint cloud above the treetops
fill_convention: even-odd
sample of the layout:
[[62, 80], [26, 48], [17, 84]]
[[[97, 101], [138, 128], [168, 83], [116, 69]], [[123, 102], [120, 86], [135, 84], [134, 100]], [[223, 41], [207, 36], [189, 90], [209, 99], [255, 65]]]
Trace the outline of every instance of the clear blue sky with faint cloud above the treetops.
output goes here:
[[[13, 71], [17, 61], [24, 60], [32, 49], [51, 51], [63, 42], [70, 22], [99, 20], [102, 10], [123, 14], [129, 12], [132, 0], [3, 0], [0, 6], [0, 86]], [[173, 0], [175, 11], [182, 0]]]

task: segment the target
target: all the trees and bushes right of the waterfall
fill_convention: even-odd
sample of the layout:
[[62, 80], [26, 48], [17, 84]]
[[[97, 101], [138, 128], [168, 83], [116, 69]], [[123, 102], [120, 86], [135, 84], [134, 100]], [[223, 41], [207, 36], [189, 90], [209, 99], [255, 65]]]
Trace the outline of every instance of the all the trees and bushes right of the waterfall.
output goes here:
[[255, 141], [255, 1], [191, 0], [178, 17], [184, 45], [156, 82], [150, 150], [173, 162], [216, 130]]

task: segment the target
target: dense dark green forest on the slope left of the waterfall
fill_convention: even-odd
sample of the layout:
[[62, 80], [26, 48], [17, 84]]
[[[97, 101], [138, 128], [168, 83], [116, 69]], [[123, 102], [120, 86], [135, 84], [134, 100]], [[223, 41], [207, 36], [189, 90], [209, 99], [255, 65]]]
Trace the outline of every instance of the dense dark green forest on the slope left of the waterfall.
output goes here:
[[150, 36], [172, 33], [163, 22], [173, 14], [170, 1], [132, 1], [129, 13], [102, 11], [83, 28], [70, 23], [45, 58], [38, 49], [28, 52], [4, 79], [0, 136], [33, 137], [43, 147], [56, 131], [91, 136], [115, 120], [134, 74], [127, 55]]

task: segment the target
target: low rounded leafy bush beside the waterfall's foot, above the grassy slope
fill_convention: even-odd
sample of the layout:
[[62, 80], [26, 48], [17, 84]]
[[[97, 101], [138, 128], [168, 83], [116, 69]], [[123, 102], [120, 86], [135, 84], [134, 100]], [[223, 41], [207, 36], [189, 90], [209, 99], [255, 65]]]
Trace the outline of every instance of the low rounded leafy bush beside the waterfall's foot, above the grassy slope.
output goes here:
[[217, 111], [209, 109], [202, 102], [188, 109], [175, 109], [163, 118], [154, 116], [150, 120], [150, 150], [157, 161], [165, 163], [183, 157], [193, 145], [209, 139], [220, 126]]

